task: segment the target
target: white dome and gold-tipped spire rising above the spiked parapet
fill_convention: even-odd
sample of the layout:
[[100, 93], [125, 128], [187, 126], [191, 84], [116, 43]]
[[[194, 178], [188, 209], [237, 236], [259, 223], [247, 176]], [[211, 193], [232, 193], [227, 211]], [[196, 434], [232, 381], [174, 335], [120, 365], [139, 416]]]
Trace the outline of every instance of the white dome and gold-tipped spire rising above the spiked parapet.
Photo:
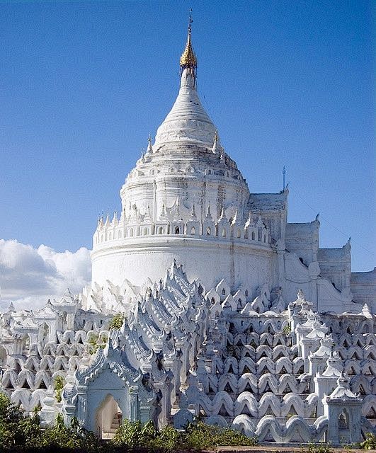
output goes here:
[[[149, 209], [156, 222], [162, 205], [172, 208], [179, 198], [181, 212], [189, 215], [195, 205], [200, 221], [205, 219], [208, 206], [217, 217], [222, 208], [232, 217], [238, 207], [241, 217], [249, 188], [237, 164], [224, 152], [217, 129], [200, 102], [190, 28], [180, 68], [176, 101], [159, 126], [154, 144], [149, 137], [147, 152], [120, 190], [123, 211], [129, 216], [134, 215], [134, 206], [141, 213]], [[218, 197], [219, 192], [224, 197]]]

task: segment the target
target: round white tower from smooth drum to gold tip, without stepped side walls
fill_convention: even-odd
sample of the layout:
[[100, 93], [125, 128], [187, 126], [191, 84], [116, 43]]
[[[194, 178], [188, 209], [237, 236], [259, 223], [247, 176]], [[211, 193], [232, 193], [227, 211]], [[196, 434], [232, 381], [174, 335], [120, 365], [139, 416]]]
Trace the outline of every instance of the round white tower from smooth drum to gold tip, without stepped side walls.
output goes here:
[[270, 273], [270, 231], [247, 226], [248, 185], [198, 97], [190, 26], [180, 69], [176, 101], [120, 189], [120, 219], [98, 222], [93, 285], [156, 281], [172, 260], [207, 287], [223, 275], [236, 285], [249, 268], [258, 287]]

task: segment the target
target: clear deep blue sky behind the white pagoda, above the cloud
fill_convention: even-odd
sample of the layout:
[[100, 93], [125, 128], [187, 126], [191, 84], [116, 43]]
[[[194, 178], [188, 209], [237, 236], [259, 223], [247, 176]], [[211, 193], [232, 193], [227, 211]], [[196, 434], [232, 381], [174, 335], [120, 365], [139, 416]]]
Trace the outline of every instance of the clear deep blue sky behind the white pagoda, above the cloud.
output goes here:
[[1, 239], [91, 248], [96, 219], [178, 92], [193, 8], [200, 98], [252, 192], [290, 182], [376, 265], [371, 1], [2, 1]]

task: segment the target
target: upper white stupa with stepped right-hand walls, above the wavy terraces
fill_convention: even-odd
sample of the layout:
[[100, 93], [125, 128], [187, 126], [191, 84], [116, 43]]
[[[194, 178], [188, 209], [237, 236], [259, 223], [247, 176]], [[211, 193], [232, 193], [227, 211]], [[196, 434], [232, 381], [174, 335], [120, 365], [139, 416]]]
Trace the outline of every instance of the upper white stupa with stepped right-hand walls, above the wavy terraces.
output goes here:
[[288, 190], [251, 194], [224, 151], [198, 97], [190, 30], [180, 66], [173, 108], [120, 189], [120, 219], [98, 222], [93, 288], [107, 281], [121, 286], [125, 279], [142, 287], [163, 277], [175, 259], [207, 290], [224, 280], [249, 294], [280, 287], [292, 300], [302, 288], [315, 309], [359, 311], [350, 243], [319, 248], [319, 220], [288, 223]]

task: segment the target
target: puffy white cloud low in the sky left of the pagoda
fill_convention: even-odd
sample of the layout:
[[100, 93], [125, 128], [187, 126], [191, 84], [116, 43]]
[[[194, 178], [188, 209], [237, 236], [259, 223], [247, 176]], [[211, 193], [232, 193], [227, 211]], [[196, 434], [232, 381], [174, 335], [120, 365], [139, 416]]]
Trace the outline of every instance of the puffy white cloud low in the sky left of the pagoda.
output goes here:
[[45, 245], [33, 248], [14, 239], [0, 239], [0, 310], [10, 300], [19, 308], [41, 306], [47, 299], [62, 297], [68, 287], [78, 294], [90, 275], [87, 248], [56, 252]]

